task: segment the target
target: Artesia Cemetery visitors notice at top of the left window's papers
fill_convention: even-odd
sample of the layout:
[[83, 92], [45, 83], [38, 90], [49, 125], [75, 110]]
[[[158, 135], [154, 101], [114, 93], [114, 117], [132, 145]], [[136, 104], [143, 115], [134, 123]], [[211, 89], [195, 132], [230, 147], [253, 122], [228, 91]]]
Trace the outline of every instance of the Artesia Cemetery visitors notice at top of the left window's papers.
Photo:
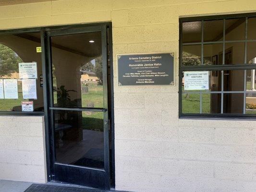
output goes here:
[[19, 63], [20, 79], [37, 79], [37, 62]]

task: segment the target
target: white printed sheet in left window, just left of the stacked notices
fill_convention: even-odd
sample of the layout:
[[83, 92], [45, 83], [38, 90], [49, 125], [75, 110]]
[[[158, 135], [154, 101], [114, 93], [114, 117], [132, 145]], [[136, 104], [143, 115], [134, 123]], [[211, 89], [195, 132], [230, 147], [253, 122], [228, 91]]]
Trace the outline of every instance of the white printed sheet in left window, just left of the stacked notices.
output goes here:
[[18, 99], [18, 82], [17, 79], [4, 79], [4, 98]]

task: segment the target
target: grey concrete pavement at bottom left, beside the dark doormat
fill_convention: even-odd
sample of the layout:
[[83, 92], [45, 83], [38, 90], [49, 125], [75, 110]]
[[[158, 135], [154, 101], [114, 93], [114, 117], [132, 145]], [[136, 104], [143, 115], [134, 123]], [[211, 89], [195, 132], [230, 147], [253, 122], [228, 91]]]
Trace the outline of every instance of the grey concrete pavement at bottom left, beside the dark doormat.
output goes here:
[[0, 180], [0, 192], [24, 192], [32, 183]]

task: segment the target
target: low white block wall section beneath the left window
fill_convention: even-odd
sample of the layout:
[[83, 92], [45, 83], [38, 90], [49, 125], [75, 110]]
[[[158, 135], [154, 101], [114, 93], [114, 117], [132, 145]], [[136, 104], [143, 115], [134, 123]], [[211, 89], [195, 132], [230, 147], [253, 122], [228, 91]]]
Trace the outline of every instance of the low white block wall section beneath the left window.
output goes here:
[[44, 118], [0, 116], [0, 180], [46, 182]]

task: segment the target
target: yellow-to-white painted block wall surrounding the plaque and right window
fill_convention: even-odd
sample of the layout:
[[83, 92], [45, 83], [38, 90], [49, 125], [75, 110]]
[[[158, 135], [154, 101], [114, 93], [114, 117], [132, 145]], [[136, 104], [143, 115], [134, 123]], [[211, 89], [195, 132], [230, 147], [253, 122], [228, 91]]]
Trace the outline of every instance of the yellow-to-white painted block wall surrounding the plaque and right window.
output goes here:
[[[254, 192], [255, 120], [178, 118], [179, 17], [238, 12], [256, 1], [55, 0], [1, 6], [0, 28], [112, 22], [117, 190]], [[176, 52], [176, 86], [116, 86], [116, 54], [161, 51]]]

